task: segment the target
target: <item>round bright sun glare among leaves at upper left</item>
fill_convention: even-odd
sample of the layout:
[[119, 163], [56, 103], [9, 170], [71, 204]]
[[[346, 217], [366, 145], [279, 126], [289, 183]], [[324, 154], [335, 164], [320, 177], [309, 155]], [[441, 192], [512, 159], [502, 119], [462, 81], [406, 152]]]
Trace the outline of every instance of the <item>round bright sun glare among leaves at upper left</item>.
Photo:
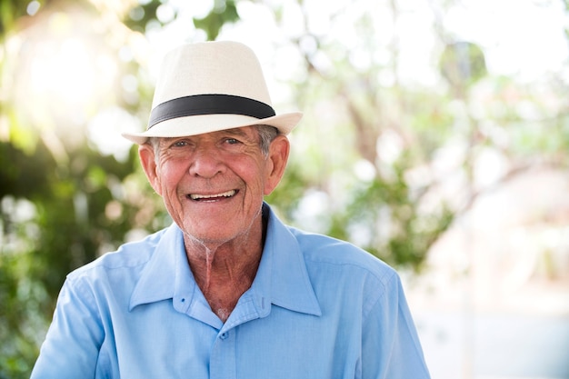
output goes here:
[[6, 61], [18, 62], [10, 66], [9, 85], [21, 125], [44, 139], [80, 143], [85, 134], [77, 127], [116, 101], [120, 65], [97, 30], [91, 15], [69, 9], [44, 13], [20, 38], [11, 38]]

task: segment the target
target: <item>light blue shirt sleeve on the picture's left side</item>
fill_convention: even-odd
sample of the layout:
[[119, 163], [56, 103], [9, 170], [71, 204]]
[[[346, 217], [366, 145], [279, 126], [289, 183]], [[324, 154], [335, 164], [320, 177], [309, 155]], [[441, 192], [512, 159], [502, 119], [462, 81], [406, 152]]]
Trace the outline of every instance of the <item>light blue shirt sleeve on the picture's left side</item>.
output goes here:
[[104, 335], [93, 292], [81, 280], [68, 278], [31, 379], [95, 378]]

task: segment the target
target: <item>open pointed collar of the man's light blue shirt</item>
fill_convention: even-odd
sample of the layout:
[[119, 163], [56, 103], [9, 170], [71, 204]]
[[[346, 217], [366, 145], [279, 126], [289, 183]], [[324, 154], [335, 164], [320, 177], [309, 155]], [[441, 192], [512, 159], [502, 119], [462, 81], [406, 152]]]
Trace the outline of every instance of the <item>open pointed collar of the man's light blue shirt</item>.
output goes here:
[[[294, 312], [321, 315], [296, 238], [268, 204], [263, 208], [268, 214], [265, 248], [254, 283], [241, 300], [248, 300], [261, 317], [270, 312], [270, 307], [265, 306], [267, 301]], [[174, 299], [175, 308], [188, 314], [190, 308], [199, 309], [196, 302], [206, 305], [187, 263], [183, 234], [176, 224], [165, 229], [155, 245], [155, 253], [135, 285], [129, 310], [167, 299]]]

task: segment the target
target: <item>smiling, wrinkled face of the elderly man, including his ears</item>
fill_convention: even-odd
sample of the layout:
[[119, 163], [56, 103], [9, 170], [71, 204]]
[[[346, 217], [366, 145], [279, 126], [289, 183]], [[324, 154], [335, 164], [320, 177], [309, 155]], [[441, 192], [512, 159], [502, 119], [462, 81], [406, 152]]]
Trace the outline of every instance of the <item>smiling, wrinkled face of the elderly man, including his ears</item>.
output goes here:
[[185, 234], [223, 244], [260, 221], [263, 196], [283, 175], [288, 149], [288, 140], [279, 135], [265, 156], [256, 128], [246, 126], [161, 138], [156, 153], [142, 145], [139, 154], [150, 184]]

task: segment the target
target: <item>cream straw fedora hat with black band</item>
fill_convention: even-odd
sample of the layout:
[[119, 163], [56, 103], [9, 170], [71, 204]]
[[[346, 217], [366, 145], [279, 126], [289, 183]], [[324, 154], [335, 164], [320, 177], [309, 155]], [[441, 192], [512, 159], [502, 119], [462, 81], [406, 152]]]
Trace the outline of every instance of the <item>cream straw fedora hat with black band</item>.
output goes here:
[[253, 50], [237, 42], [186, 44], [165, 55], [145, 132], [124, 133], [136, 144], [148, 137], [181, 137], [248, 125], [272, 125], [287, 135], [302, 113], [276, 115]]

